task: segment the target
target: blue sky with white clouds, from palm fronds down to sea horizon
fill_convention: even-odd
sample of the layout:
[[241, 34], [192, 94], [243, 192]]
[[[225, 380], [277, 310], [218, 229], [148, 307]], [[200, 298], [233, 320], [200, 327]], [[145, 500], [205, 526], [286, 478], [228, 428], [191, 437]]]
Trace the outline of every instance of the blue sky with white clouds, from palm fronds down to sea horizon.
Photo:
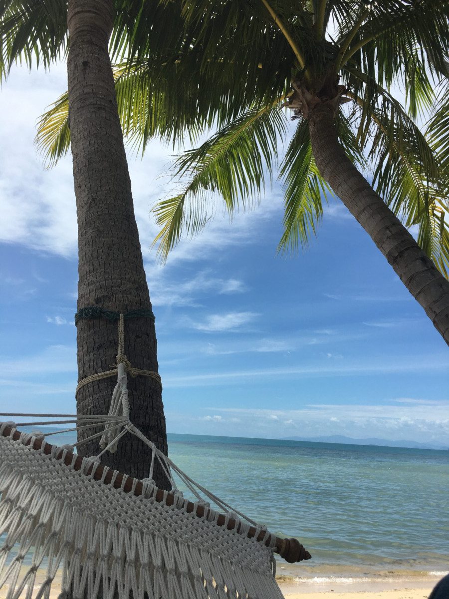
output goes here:
[[[1, 411], [75, 410], [71, 158], [45, 171], [33, 146], [65, 79], [63, 66], [16, 69], [0, 94]], [[130, 157], [168, 431], [448, 445], [447, 346], [342, 204], [330, 202], [307, 252], [282, 258], [274, 186], [233, 223], [218, 214], [162, 267], [149, 210], [170, 155], [155, 141]]]

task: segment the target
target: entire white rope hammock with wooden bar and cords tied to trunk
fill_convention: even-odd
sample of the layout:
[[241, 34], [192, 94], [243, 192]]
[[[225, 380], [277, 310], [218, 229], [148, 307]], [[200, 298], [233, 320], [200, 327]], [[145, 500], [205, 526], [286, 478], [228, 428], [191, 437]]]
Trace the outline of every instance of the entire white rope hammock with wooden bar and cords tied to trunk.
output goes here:
[[[199, 485], [131, 422], [124, 319], [120, 314], [108, 415], [0, 414], [41, 418], [23, 425], [76, 424], [57, 433], [103, 428], [57, 447], [45, 441], [54, 431], [26, 434], [14, 422], [0, 423], [0, 589], [8, 588], [7, 599], [48, 599], [62, 568], [58, 599], [282, 599], [273, 553], [289, 562], [310, 559], [310, 553]], [[151, 448], [147, 479], [99, 463], [127, 433]], [[98, 456], [73, 453], [98, 437]], [[171, 491], [152, 480], [156, 460]], [[177, 479], [195, 501], [184, 498]], [[42, 570], [44, 582], [35, 588]]]

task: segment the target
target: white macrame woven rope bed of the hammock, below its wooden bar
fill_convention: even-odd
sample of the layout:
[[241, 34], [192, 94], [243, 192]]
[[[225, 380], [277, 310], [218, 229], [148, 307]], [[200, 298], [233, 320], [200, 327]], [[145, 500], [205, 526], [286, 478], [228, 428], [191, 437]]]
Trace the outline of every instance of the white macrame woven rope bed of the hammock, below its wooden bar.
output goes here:
[[[107, 468], [95, 480], [96, 464], [86, 473], [89, 458], [75, 470], [75, 456], [66, 465], [56, 459], [60, 448], [45, 455], [45, 441], [36, 450], [25, 445], [29, 437], [0, 434], [0, 588], [8, 588], [7, 599], [47, 599], [61, 567], [59, 599], [282, 599], [272, 548], [248, 538], [235, 515], [227, 530], [213, 510], [187, 513], [182, 495], [174, 506], [159, 503], [151, 483], [136, 497], [125, 483], [102, 482]], [[46, 578], [34, 591], [39, 568]]]

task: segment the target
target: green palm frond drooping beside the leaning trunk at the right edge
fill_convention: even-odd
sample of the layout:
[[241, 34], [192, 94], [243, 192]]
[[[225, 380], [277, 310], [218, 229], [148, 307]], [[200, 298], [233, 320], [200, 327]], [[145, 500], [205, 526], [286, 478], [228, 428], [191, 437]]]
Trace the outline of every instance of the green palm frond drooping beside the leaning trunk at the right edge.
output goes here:
[[418, 226], [418, 244], [447, 276], [449, 238], [438, 156], [401, 105], [385, 90], [380, 98], [377, 104], [357, 98], [359, 140], [362, 147], [371, 146], [373, 186], [406, 226]]

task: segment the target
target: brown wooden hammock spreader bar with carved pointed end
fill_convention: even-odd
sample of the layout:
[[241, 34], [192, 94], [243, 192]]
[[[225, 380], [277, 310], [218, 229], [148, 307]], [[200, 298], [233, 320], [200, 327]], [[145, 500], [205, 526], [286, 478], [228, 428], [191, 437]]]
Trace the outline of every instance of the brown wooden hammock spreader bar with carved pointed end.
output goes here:
[[[11, 437], [11, 431], [13, 431], [13, 430], [14, 430], [13, 435], [12, 435], [13, 440], [19, 441], [20, 440], [20, 431], [17, 431], [17, 429], [11, 429], [9, 426], [4, 427], [3, 436]], [[31, 438], [28, 441], [26, 441], [25, 444], [30, 445]], [[42, 441], [40, 439], [35, 439], [32, 447], [33, 447], [33, 449], [41, 449]], [[51, 446], [49, 443], [45, 443], [44, 453], [47, 455], [50, 454], [52, 448], [53, 448], [53, 446]], [[53, 455], [56, 459], [62, 460], [63, 452], [64, 452], [64, 450], [61, 449], [59, 453], [54, 453]], [[74, 456], [73, 453], [66, 452], [64, 463], [68, 466], [72, 465], [74, 470], [81, 470], [81, 464], [83, 463], [83, 458], [80, 458], [78, 456], [75, 459], [75, 462], [72, 462], [73, 456]], [[102, 466], [101, 464], [96, 466], [95, 472], [93, 473], [93, 478], [95, 480], [101, 480], [103, 471], [105, 469], [108, 471], [105, 474], [104, 483], [106, 485], [110, 485], [111, 481], [113, 479], [113, 470], [111, 470], [110, 468], [107, 468], [105, 466]], [[89, 467], [84, 469], [86, 475], [91, 474], [92, 470], [93, 470], [93, 465], [90, 465]], [[127, 475], [119, 473], [116, 476], [116, 478], [114, 479], [114, 488], [119, 489], [122, 486], [122, 480], [123, 480], [124, 476], [127, 476]], [[126, 480], [126, 483], [123, 486], [123, 491], [125, 491], [126, 493], [132, 492], [132, 488], [134, 486], [134, 480], [135, 479], [128, 477], [128, 480]], [[137, 497], [139, 495], [141, 495], [142, 488], [143, 488], [142, 483], [140, 481], [138, 481], [135, 484], [134, 495], [136, 495]], [[165, 494], [165, 491], [163, 491], [162, 489], [157, 489], [157, 492], [154, 495], [154, 498], [156, 499], [156, 501], [159, 501], [159, 503], [165, 503], [167, 506], [172, 506], [175, 503], [175, 496], [173, 494], [171, 494], [170, 492], [168, 492], [168, 495], [166, 495], [165, 500], [164, 500], [164, 494]], [[199, 517], [204, 516], [204, 506], [196, 505], [195, 503], [192, 503], [191, 501], [189, 501], [189, 503], [187, 503], [186, 511], [188, 513], [195, 512], [195, 515], [199, 516]], [[223, 514], [220, 514], [218, 516], [217, 524], [219, 526], [227, 525], [228, 530], [233, 530], [235, 528], [235, 520], [229, 519], [226, 524], [226, 516]], [[250, 539], [252, 539], [255, 535], [256, 535], [256, 528], [251, 527], [248, 530], [248, 537]], [[259, 536], [257, 537], [257, 541], [262, 541], [264, 536], [265, 536], [265, 532], [262, 531], [261, 533], [259, 533]], [[305, 549], [305, 547], [301, 543], [299, 543], [299, 541], [297, 539], [293, 539], [293, 538], [292, 539], [280, 539], [279, 537], [274, 537], [274, 540], [275, 540], [275, 547], [274, 547], [275, 553], [278, 553], [281, 556], [281, 558], [284, 558], [290, 564], [294, 564], [295, 562], [302, 561], [303, 559], [311, 558], [310, 553], [307, 551], [307, 549]], [[267, 546], [269, 546], [271, 544], [271, 537], [268, 537], [268, 539], [265, 541], [265, 544]]]

